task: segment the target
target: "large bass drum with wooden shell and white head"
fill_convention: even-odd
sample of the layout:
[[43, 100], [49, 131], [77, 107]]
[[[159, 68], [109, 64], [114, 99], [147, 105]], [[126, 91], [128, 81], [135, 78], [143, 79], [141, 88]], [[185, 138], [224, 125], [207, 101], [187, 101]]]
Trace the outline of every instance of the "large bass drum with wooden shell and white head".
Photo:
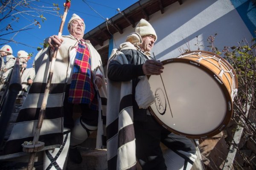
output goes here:
[[169, 131], [193, 139], [220, 133], [229, 123], [238, 80], [232, 66], [208, 51], [166, 59], [161, 75], [148, 78], [151, 114]]

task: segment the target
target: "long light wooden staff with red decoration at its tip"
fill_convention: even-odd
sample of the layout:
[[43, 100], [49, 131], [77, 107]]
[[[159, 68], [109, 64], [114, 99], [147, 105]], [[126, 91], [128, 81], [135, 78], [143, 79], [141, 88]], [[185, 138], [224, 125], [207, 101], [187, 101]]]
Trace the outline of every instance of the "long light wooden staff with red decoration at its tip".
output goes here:
[[[64, 10], [64, 14], [63, 14], [63, 17], [61, 20], [61, 26], [59, 28], [58, 37], [61, 37], [62, 31], [63, 31], [63, 26], [64, 26], [64, 23], [65, 23], [65, 20], [67, 17], [67, 11], [70, 8], [70, 1], [71, 0], [66, 0], [66, 3], [64, 3], [65, 10]], [[43, 98], [43, 102], [42, 102], [41, 109], [39, 112], [38, 123], [37, 123], [37, 127], [35, 130], [35, 135], [33, 138], [32, 145], [26, 145], [26, 144], [23, 145], [23, 151], [30, 153], [27, 170], [33, 169], [36, 152], [38, 152], [44, 148], [44, 142], [38, 142], [38, 139], [39, 139], [41, 127], [42, 127], [42, 124], [44, 121], [44, 114], [45, 114], [45, 109], [46, 109], [46, 105], [47, 105], [47, 99], [49, 96], [50, 85], [52, 82], [52, 75], [53, 75], [53, 69], [54, 69], [54, 65], [55, 65], [55, 61], [56, 61], [57, 52], [58, 52], [58, 47], [55, 47], [54, 52], [53, 52], [52, 61], [50, 62], [50, 70], [49, 70], [49, 74], [48, 74], [47, 85], [46, 85], [46, 88], [44, 91], [44, 98]]]

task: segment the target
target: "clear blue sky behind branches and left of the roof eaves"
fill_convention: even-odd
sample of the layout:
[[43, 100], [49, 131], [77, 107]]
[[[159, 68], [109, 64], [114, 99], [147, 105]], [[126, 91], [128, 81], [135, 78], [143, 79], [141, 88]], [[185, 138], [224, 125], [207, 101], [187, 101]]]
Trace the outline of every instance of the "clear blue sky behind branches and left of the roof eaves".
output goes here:
[[[70, 10], [67, 14], [67, 19], [64, 25], [63, 29], [63, 35], [69, 34], [67, 31], [67, 22], [70, 20], [70, 17], [73, 13], [78, 14], [81, 18], [84, 19], [85, 23], [85, 33], [92, 30], [96, 26], [99, 26], [105, 20], [103, 18], [111, 18], [114, 15], [118, 14], [116, 11], [117, 8], [120, 9], [120, 11], [123, 11], [124, 9], [128, 8], [132, 4], [136, 3], [138, 0], [84, 0], [86, 3], [83, 2], [83, 0], [71, 0], [71, 6]], [[35, 2], [38, 6], [47, 6], [47, 7], [53, 7], [52, 3], [58, 4], [60, 7], [60, 14], [64, 14], [64, 7], [63, 3], [65, 0], [40, 0], [39, 2]], [[18, 9], [18, 8], [17, 8]], [[22, 11], [22, 9], [19, 9]], [[49, 10], [52, 11], [52, 8], [49, 8]], [[13, 55], [16, 57], [17, 52], [19, 50], [25, 50], [28, 53], [33, 53], [33, 57], [28, 62], [28, 67], [32, 67], [32, 62], [35, 58], [35, 55], [37, 54], [37, 47], [42, 47], [40, 43], [44, 41], [46, 37], [49, 37], [54, 34], [58, 34], [58, 30], [61, 23], [61, 18], [58, 16], [50, 15], [43, 13], [44, 17], [47, 18], [44, 22], [42, 22], [40, 19], [37, 19], [41, 23], [41, 28], [38, 28], [38, 26], [30, 26], [29, 30], [21, 31], [18, 33], [14, 40], [17, 42], [22, 42], [26, 45], [29, 45], [31, 47], [28, 47], [26, 45], [16, 44], [13, 42], [9, 42], [8, 45], [12, 47]], [[15, 30], [18, 30], [20, 28], [23, 28], [30, 24], [29, 21], [34, 20], [33, 17], [29, 15], [23, 15], [25, 17], [22, 17], [21, 15], [15, 15], [16, 17], [20, 17], [19, 22], [12, 23], [12, 28]], [[9, 17], [8, 19], [1, 21], [0, 28], [4, 28], [9, 23], [11, 23], [12, 17]], [[11, 30], [9, 30], [11, 31]], [[6, 34], [9, 31], [3, 31], [0, 34]], [[12, 37], [11, 35], [6, 35], [1, 38], [9, 39]], [[0, 43], [2, 44], [3, 41], [0, 40]], [[35, 47], [35, 48], [32, 48]]]

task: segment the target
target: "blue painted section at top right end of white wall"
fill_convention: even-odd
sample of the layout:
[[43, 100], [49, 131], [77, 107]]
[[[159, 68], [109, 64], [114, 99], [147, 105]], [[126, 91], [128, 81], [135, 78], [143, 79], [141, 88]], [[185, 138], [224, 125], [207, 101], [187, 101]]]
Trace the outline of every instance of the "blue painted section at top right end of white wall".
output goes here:
[[253, 37], [256, 37], [256, 6], [252, 0], [230, 0]]

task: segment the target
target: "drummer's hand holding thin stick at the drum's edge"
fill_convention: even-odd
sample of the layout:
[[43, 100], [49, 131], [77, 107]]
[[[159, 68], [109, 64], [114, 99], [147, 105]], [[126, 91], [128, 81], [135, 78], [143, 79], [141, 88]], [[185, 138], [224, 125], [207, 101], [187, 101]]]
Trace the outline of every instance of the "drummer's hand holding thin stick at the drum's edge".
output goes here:
[[154, 59], [148, 59], [142, 65], [143, 73], [145, 75], [159, 75], [163, 73], [163, 63]]

